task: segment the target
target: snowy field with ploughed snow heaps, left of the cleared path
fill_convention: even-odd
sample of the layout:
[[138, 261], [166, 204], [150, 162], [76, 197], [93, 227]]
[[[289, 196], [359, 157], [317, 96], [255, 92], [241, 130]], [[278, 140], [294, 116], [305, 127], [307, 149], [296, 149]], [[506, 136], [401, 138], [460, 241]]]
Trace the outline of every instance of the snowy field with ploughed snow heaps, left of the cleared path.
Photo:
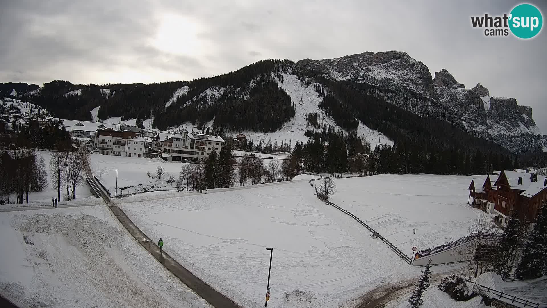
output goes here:
[[24, 307], [210, 307], [106, 206], [1, 213], [0, 293]]

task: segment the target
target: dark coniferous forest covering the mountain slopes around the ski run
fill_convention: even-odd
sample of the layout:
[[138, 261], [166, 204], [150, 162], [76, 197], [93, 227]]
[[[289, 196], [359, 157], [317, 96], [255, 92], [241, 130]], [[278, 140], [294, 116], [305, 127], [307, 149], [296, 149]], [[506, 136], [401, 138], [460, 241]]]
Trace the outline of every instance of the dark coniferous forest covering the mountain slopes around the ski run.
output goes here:
[[[426, 116], [418, 116], [386, 100], [397, 96], [411, 105], [416, 100], [429, 100], [427, 97], [404, 89], [334, 81], [289, 60], [259, 61], [190, 82], [75, 85], [53, 81], [24, 98], [61, 118], [90, 120], [90, 111], [101, 106], [100, 119], [137, 118], [141, 127], [144, 119], [153, 116], [153, 126], [159, 129], [186, 122], [204, 127], [214, 119], [211, 133], [274, 132], [294, 117], [298, 103], [278, 86], [277, 80], [283, 82], [281, 73], [299, 76], [302, 85], [313, 84], [322, 99], [319, 107], [342, 128], [322, 127], [317, 113], [306, 115], [310, 140], [293, 144], [292, 150], [303, 168], [312, 172], [484, 174], [514, 168], [526, 159], [545, 160], [531, 155], [519, 160], [504, 147], [473, 136], [458, 126], [456, 115], [434, 101]], [[186, 86], [181, 96], [166, 104], [177, 89]], [[79, 94], [68, 93], [74, 90], [80, 90]], [[359, 123], [383, 133], [394, 144], [371, 148], [370, 140], [357, 134]], [[245, 145], [258, 151], [265, 147], [261, 143]]]

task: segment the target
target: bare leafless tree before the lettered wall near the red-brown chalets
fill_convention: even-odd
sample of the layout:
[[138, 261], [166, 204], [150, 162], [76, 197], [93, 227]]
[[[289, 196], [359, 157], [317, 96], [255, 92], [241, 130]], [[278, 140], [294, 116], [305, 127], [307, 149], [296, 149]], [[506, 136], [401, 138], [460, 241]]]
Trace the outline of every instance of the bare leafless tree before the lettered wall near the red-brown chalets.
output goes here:
[[475, 277], [487, 272], [492, 266], [493, 256], [488, 249], [493, 246], [492, 235], [498, 234], [499, 228], [488, 215], [479, 215], [475, 222], [469, 225], [469, 235], [476, 235], [474, 267]]

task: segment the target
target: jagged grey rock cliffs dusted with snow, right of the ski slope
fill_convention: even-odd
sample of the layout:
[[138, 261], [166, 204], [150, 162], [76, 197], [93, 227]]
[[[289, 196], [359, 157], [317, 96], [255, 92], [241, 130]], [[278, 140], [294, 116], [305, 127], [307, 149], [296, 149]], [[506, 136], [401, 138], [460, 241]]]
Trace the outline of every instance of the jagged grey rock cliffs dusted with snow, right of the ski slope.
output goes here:
[[[512, 152], [547, 150], [547, 135], [537, 128], [531, 107], [517, 105], [514, 98], [491, 96], [480, 83], [466, 89], [445, 69], [435, 72], [432, 78], [426, 65], [405, 52], [365, 52], [336, 59], [305, 59], [298, 64], [335, 80], [365, 82], [420, 94], [423, 100], [410, 102], [405, 95], [389, 100], [418, 115], [442, 114], [444, 119], [456, 118], [457, 123], [453, 124]], [[446, 109], [452, 115], [446, 116]]]

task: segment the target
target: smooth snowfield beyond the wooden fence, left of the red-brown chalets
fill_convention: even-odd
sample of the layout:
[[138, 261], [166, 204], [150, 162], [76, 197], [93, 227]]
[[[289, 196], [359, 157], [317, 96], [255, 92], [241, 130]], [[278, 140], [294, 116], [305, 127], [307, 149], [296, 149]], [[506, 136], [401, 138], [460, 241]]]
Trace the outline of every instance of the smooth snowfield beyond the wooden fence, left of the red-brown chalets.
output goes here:
[[487, 215], [468, 204], [472, 178], [383, 174], [336, 179], [337, 194], [330, 201], [412, 256], [413, 246], [420, 250], [467, 236], [469, 224]]

